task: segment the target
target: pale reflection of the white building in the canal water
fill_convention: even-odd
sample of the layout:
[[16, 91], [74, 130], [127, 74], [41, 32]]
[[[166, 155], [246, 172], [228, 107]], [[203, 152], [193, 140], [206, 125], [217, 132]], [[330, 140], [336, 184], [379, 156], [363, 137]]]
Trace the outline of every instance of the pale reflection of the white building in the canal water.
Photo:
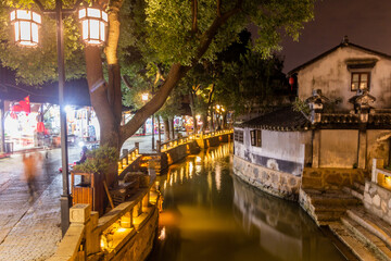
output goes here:
[[[338, 260], [328, 238], [299, 206], [263, 194], [234, 177], [234, 215], [275, 260]], [[335, 256], [335, 257], [332, 257]]]

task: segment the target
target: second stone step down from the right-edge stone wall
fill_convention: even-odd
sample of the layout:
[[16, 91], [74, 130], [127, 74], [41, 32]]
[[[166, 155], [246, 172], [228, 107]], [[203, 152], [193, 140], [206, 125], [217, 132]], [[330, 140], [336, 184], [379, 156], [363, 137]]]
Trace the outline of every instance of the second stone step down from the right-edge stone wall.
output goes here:
[[391, 250], [379, 237], [361, 226], [349, 216], [341, 217], [341, 222], [358, 240], [369, 247], [370, 251], [375, 253], [378, 260], [391, 260]]

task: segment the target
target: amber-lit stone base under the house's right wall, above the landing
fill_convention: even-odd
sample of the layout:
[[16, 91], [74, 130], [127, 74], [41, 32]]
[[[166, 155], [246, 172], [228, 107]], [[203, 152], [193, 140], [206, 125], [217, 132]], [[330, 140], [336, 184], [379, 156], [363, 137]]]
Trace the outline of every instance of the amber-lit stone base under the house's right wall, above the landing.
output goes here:
[[362, 169], [305, 167], [302, 187], [315, 189], [350, 187], [354, 182], [364, 183], [367, 175], [367, 172]]

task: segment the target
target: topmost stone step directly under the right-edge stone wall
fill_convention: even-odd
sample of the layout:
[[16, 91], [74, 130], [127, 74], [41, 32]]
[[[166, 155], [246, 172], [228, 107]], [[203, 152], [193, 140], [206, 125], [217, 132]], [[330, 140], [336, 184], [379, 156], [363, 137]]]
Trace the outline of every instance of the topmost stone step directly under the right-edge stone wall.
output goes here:
[[346, 214], [361, 226], [378, 236], [389, 248], [391, 248], [390, 224], [362, 209], [348, 210]]

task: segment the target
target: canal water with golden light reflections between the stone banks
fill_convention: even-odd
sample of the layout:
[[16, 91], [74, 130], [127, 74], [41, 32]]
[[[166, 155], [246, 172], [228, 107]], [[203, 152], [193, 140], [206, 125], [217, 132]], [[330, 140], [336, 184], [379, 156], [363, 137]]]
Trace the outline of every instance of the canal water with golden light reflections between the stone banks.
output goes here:
[[230, 152], [212, 148], [157, 177], [164, 202], [149, 261], [344, 260], [298, 203], [236, 177]]

